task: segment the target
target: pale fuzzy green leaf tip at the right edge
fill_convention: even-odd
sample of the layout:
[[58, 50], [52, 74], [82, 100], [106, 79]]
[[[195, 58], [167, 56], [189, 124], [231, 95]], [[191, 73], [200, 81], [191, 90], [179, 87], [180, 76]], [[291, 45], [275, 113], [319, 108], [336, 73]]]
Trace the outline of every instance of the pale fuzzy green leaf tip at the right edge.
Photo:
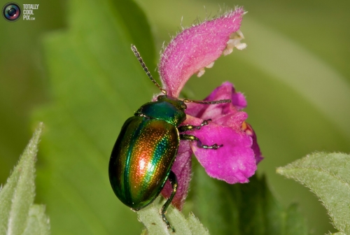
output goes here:
[[315, 152], [277, 172], [309, 187], [322, 201], [335, 228], [350, 234], [350, 155]]

